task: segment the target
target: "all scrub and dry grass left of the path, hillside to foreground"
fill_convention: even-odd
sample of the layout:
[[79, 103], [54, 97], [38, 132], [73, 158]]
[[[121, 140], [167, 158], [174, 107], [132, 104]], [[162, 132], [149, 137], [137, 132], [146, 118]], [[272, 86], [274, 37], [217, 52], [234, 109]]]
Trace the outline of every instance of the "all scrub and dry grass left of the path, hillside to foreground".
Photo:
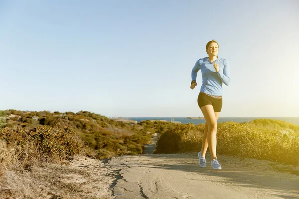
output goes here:
[[153, 133], [171, 125], [123, 123], [88, 111], [2, 110], [0, 198], [102, 198], [108, 172], [92, 159], [141, 154]]

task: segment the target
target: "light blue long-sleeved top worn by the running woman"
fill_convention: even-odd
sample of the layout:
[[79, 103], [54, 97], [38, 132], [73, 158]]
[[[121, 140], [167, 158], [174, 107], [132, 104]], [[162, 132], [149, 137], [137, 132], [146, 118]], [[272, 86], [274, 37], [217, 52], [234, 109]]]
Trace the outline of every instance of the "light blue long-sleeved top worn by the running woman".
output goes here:
[[[214, 62], [219, 66], [219, 72], [214, 69]], [[217, 58], [213, 63], [208, 57], [197, 60], [191, 72], [191, 81], [196, 81], [197, 72], [201, 70], [202, 86], [200, 92], [213, 96], [222, 96], [222, 83], [230, 83], [229, 64], [226, 59]]]

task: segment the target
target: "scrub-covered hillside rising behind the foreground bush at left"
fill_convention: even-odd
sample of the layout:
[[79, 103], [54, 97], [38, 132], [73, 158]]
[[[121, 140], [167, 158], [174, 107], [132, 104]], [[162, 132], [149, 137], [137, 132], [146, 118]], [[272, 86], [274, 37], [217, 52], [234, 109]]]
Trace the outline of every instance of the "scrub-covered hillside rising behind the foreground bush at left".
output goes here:
[[[144, 144], [148, 144], [151, 136], [155, 132], [163, 132], [168, 128], [175, 126], [171, 122], [144, 121], [135, 125], [117, 122], [100, 114], [89, 111], [79, 111], [77, 113], [65, 112], [66, 115], [60, 115], [55, 111], [16, 111], [5, 110], [5, 113], [15, 113], [21, 116], [20, 121], [9, 119], [0, 122], [1, 126], [23, 128], [23, 131], [32, 128], [40, 128], [41, 125], [56, 126], [62, 129], [68, 126], [84, 142], [88, 154], [97, 154], [97, 158], [106, 158], [115, 155], [142, 154]], [[26, 131], [27, 132], [27, 131]], [[22, 134], [22, 133], [21, 133]], [[30, 135], [31, 136], [31, 135]], [[31, 136], [32, 137], [32, 136]], [[92, 152], [93, 151], [93, 152]], [[33, 153], [33, 152], [32, 152]], [[30, 154], [30, 153], [29, 153]]]

